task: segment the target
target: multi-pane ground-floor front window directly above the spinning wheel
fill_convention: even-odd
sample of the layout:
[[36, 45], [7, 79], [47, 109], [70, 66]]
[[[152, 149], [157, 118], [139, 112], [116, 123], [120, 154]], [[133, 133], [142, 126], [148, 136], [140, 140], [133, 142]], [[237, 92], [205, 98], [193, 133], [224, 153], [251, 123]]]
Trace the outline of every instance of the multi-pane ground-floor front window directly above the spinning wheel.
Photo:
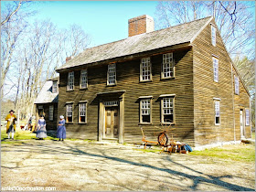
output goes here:
[[162, 123], [174, 123], [174, 98], [162, 100]]

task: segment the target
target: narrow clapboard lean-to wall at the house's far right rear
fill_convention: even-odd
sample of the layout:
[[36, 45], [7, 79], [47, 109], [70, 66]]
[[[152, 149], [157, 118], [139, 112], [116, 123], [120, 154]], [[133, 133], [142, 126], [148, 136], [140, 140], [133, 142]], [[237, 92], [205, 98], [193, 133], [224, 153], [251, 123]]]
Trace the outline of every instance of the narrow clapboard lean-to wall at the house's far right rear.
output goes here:
[[[234, 69], [234, 67], [232, 67], [232, 71], [233, 71], [233, 83], [235, 85], [235, 79], [234, 79], [234, 75], [236, 77], [238, 77], [238, 73], [237, 71]], [[240, 140], [240, 110], [243, 110], [243, 115], [244, 115], [244, 122], [245, 122], [245, 109], [249, 109], [250, 110], [250, 98], [249, 95], [247, 93], [247, 91], [244, 89], [244, 86], [241, 82], [241, 80], [239, 80], [239, 94], [234, 94], [234, 117], [235, 117], [235, 134], [236, 134], [236, 140]], [[234, 92], [235, 92], [235, 86], [233, 88]], [[250, 117], [251, 118], [251, 117]], [[250, 119], [251, 120], [251, 119]], [[246, 138], [251, 138], [251, 124], [250, 125], [245, 125], [245, 137]]]

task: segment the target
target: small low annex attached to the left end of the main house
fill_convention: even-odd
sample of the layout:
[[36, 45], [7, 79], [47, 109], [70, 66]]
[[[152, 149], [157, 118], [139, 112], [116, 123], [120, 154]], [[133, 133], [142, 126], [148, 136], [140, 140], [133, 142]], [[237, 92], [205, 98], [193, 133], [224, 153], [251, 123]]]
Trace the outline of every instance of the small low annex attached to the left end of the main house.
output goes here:
[[36, 122], [42, 114], [45, 116], [47, 130], [57, 130], [59, 77], [47, 80], [35, 101]]

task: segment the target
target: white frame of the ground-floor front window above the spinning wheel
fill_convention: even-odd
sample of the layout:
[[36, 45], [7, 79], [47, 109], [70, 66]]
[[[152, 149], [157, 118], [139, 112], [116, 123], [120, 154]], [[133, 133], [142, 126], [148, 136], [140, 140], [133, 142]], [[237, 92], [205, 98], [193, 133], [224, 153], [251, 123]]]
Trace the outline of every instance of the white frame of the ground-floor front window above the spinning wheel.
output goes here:
[[[173, 115], [173, 122], [165, 122], [165, 115]], [[163, 97], [161, 100], [161, 123], [175, 124], [175, 97]]]

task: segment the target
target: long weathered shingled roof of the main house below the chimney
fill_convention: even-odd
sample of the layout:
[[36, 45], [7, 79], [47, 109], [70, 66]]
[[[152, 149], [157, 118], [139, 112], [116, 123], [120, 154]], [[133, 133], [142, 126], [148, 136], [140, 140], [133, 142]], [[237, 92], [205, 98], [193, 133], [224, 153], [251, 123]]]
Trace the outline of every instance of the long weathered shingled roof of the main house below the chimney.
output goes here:
[[103, 44], [94, 48], [87, 48], [74, 59], [69, 59], [69, 61], [59, 67], [57, 71], [106, 59], [120, 58], [148, 50], [191, 42], [211, 19], [212, 16], [208, 16], [175, 27], [168, 27]]

